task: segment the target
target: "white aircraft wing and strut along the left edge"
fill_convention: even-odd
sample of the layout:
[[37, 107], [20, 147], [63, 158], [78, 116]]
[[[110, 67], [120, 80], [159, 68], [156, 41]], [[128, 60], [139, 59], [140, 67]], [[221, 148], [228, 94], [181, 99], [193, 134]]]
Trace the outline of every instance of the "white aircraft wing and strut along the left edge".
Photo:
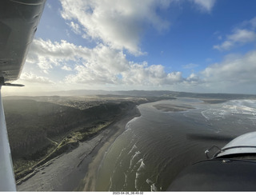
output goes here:
[[[46, 0], [0, 1], [0, 89], [19, 78], [45, 3]], [[16, 191], [1, 90], [0, 191]]]

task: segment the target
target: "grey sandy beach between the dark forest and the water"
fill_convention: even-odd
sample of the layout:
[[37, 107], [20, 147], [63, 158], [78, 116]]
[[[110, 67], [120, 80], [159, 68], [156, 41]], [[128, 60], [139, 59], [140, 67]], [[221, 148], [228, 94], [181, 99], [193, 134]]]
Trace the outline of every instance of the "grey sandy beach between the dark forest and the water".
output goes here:
[[127, 122], [138, 116], [138, 109], [134, 107], [97, 136], [81, 142], [78, 148], [35, 169], [30, 177], [18, 183], [17, 190], [94, 191], [94, 182], [102, 157], [125, 130]]

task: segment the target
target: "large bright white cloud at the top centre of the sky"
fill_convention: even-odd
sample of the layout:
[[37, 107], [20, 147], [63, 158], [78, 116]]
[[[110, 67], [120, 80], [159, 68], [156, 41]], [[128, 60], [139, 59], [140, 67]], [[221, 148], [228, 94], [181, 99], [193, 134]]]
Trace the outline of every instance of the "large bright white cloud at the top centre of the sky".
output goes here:
[[[78, 31], [74, 21], [82, 26], [83, 37], [101, 40], [114, 49], [144, 54], [139, 48], [140, 36], [145, 26], [153, 26], [158, 31], [169, 28], [170, 23], [158, 15], [158, 10], [168, 8], [166, 0], [60, 0], [62, 18], [70, 22]], [[73, 22], [73, 23], [72, 23]]]

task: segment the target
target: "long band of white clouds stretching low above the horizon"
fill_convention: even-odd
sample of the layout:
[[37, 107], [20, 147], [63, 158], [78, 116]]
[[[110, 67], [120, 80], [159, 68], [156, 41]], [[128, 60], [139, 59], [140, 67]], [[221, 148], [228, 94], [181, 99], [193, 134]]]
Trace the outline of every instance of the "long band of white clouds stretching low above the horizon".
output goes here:
[[[36, 39], [30, 50], [30, 63], [47, 70], [49, 78], [58, 76], [62, 84], [82, 84], [86, 86], [139, 86], [139, 87], [181, 87], [191, 86], [242, 85], [256, 82], [256, 51], [238, 56], [229, 55], [225, 61], [216, 63], [200, 74], [192, 73], [182, 77], [182, 72], [166, 72], [162, 65], [149, 65], [147, 62], [129, 62], [122, 50], [99, 44], [93, 49], [75, 46], [69, 42], [50, 42]], [[42, 62], [41, 62], [42, 60]], [[48, 62], [43, 66], [44, 62]], [[193, 69], [198, 65], [183, 66]], [[71, 67], [74, 67], [71, 69]], [[67, 70], [62, 76], [54, 75], [58, 70]], [[62, 72], [63, 73], [63, 72]], [[50, 82], [50, 79], [34, 74], [22, 74], [27, 82]], [[224, 85], [225, 83], [225, 85]], [[182, 88], [183, 87], [183, 88]], [[179, 89], [179, 88], [178, 88]]]

